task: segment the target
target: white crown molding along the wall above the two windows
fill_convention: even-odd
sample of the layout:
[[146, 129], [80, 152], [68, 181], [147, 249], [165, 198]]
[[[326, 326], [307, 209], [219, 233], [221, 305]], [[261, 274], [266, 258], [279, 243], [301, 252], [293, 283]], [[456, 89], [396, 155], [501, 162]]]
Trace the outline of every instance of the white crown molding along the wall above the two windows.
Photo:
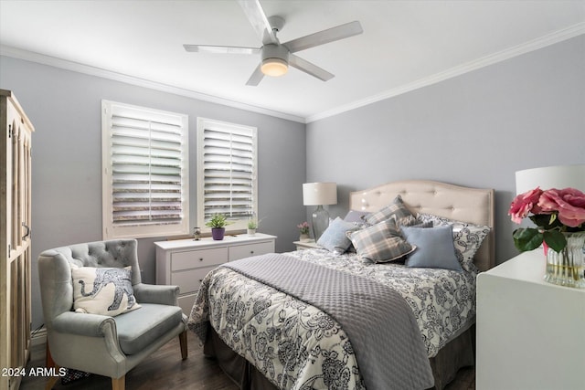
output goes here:
[[211, 103], [217, 103], [224, 106], [233, 107], [240, 110], [245, 111], [252, 111], [261, 113], [264, 115], [270, 115], [276, 118], [282, 118], [287, 121], [297, 121], [304, 123], [304, 118], [292, 114], [288, 114], [281, 111], [273, 111], [270, 109], [265, 109], [258, 106], [253, 106], [251, 104], [242, 103], [235, 100], [229, 100], [224, 98], [219, 98], [212, 95], [207, 95], [205, 93], [197, 92], [195, 90], [186, 90], [183, 88], [173, 87], [170, 85], [166, 85], [159, 82], [154, 82], [147, 79], [140, 79], [133, 76], [124, 75], [122, 73], [113, 72], [112, 70], [106, 70], [96, 67], [91, 67], [89, 65], [80, 64], [79, 62], [68, 61], [66, 59], [55, 58], [51, 56], [46, 56], [43, 54], [35, 53], [32, 51], [23, 50], [16, 47], [9, 47], [5, 45], [0, 45], [0, 55], [5, 57], [11, 58], [18, 58], [24, 59], [31, 62], [36, 62], [38, 64], [48, 65], [50, 67], [59, 68], [59, 69], [67, 69], [72, 70], [74, 72], [83, 73], [90, 76], [97, 76], [103, 79], [112, 79], [115, 81], [120, 81], [126, 84], [135, 85], [138, 87], [144, 87], [151, 90], [160, 90], [162, 92], [173, 93], [175, 95], [184, 96], [186, 98], [192, 98], [197, 100], [208, 101]]

